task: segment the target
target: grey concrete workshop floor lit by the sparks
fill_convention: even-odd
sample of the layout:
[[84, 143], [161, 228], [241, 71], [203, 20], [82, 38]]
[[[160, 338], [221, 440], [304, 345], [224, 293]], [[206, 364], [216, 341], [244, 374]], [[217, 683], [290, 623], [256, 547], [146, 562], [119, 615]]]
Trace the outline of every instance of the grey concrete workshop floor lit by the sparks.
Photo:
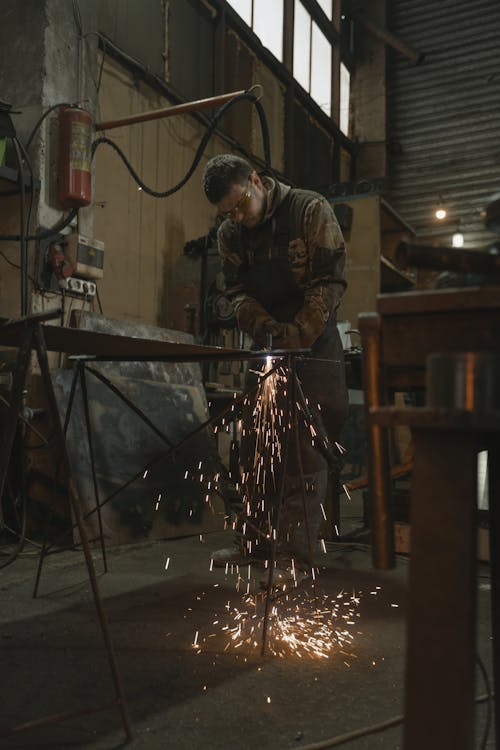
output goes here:
[[[402, 714], [407, 559], [400, 557], [394, 570], [380, 572], [371, 566], [368, 547], [329, 544], [317, 556], [316, 601], [309, 586], [292, 597], [294, 604], [300, 603], [302, 622], [307, 613], [323, 612], [316, 622], [323, 624], [326, 641], [333, 642], [328, 658], [309, 654], [304, 642], [300, 653], [280, 646], [277, 625], [269, 631], [262, 657], [259, 627], [252, 637], [250, 626], [244, 629], [248, 642], [243, 643], [245, 639], [231, 640], [224, 629], [235, 627], [236, 610], [252, 611], [242, 596], [246, 570], [239, 592], [234, 575], [210, 571], [211, 552], [230, 540], [230, 532], [216, 532], [201, 539], [110, 548], [107, 574], [100, 573], [100, 554], [95, 552], [132, 741], [125, 742], [119, 711], [111, 706], [16, 733], [2, 739], [1, 747], [284, 750], [314, 747]], [[0, 730], [82, 711], [114, 697], [82, 553], [51, 555], [39, 597], [33, 599], [36, 565], [36, 551], [27, 548], [1, 572]], [[488, 566], [479, 565], [478, 575], [478, 653], [491, 673]], [[438, 573], [436, 581], [446, 585]], [[353, 593], [358, 602], [348, 621], [340, 616], [333, 620], [336, 604], [351, 610]], [[286, 622], [292, 603], [281, 600], [276, 606]], [[262, 613], [262, 601], [259, 609]], [[339, 631], [347, 631], [343, 644]], [[272, 653], [280, 650], [283, 655]], [[484, 693], [479, 671], [476, 692]], [[485, 717], [482, 703], [477, 708], [477, 747]], [[345, 746], [401, 748], [401, 726]], [[493, 729], [485, 747], [495, 747]]]

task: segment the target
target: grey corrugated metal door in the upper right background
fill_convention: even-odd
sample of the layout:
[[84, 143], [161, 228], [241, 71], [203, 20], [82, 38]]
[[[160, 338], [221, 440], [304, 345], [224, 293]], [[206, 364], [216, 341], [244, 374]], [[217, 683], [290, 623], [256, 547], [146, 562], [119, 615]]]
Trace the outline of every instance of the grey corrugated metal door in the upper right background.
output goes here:
[[[390, 30], [425, 55], [388, 55], [389, 200], [439, 245], [487, 247], [481, 210], [500, 192], [500, 3], [390, 0]], [[442, 201], [447, 217], [434, 210]]]

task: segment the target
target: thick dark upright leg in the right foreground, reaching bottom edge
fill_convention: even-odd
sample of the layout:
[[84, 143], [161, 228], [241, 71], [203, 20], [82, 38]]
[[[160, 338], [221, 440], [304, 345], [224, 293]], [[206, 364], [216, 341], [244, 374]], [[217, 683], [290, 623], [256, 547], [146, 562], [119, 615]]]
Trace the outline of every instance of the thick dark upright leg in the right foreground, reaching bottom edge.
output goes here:
[[414, 428], [405, 750], [474, 743], [477, 436]]

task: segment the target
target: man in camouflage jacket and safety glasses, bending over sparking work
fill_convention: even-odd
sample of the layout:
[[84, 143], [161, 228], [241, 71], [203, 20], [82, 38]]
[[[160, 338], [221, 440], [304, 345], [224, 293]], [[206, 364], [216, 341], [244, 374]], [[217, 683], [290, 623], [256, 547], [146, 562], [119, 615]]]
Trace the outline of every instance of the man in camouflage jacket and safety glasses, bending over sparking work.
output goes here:
[[[272, 343], [274, 350], [311, 350], [307, 357], [298, 358], [299, 387], [308, 404], [301, 408], [298, 421], [300, 460], [294, 457], [294, 441], [289, 443], [283, 502], [278, 509], [279, 467], [278, 478], [273, 476], [267, 483], [266, 494], [273, 498], [266, 506], [260, 497], [262, 487], [255, 479], [260, 468], [252, 457], [259, 439], [250, 424], [256, 412], [254, 399], [244, 414], [241, 454], [246, 510], [238, 524], [239, 543], [235, 549], [214, 553], [214, 562], [269, 559], [276, 538], [279, 565], [307, 569], [310, 540], [314, 544], [321, 523], [328, 468], [335, 463], [328, 455], [335, 453], [332, 446], [347, 416], [344, 358], [336, 325], [346, 288], [344, 240], [325, 198], [261, 177], [238, 156], [222, 154], [210, 159], [203, 188], [223, 220], [218, 248], [226, 295], [233, 301], [240, 330], [257, 349]], [[283, 401], [283, 396], [278, 400]], [[278, 403], [278, 409], [282, 407]], [[312, 431], [305, 416], [312, 419]], [[311, 434], [317, 435], [315, 445]]]

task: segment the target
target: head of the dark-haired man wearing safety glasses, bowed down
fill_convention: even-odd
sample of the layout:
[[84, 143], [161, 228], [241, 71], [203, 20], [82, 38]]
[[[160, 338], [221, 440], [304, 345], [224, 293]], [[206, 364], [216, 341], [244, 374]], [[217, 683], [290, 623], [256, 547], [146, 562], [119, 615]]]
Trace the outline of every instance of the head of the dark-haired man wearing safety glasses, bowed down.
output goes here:
[[203, 189], [225, 219], [254, 227], [263, 218], [266, 190], [259, 175], [240, 156], [219, 154], [210, 159], [203, 172]]

